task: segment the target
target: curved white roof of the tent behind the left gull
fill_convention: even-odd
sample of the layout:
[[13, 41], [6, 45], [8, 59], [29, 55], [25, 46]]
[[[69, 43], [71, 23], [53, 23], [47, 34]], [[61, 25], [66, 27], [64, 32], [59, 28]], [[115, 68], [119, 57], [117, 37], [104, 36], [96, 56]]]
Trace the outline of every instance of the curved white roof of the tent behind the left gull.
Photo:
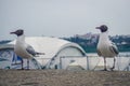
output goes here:
[[[65, 47], [76, 47], [81, 51], [82, 54], [86, 54], [84, 51], [76, 43], [72, 43], [57, 38], [50, 37], [27, 37], [25, 39], [26, 43], [30, 44], [36, 52], [46, 53], [40, 57], [43, 58], [52, 58], [54, 57], [61, 49]], [[9, 44], [15, 44], [15, 41], [10, 42]]]

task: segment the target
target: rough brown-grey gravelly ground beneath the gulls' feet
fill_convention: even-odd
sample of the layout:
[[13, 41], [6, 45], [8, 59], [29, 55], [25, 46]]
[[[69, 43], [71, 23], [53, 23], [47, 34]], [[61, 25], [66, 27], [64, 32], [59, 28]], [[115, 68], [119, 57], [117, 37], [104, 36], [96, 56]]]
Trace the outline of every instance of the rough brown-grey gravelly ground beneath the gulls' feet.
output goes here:
[[0, 86], [130, 86], [130, 72], [0, 70]]

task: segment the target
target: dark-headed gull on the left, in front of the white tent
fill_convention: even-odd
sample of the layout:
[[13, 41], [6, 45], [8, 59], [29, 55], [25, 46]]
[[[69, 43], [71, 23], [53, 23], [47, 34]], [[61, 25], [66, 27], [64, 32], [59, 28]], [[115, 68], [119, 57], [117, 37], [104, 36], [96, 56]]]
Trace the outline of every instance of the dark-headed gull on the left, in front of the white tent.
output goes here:
[[[22, 57], [23, 59], [27, 59], [27, 69], [29, 69], [29, 59], [31, 59], [32, 57], [37, 55], [44, 55], [44, 53], [36, 52], [32, 48], [32, 46], [30, 46], [29, 44], [25, 42], [25, 35], [24, 35], [23, 29], [18, 29], [14, 32], [11, 32], [11, 34], [17, 35], [16, 43], [14, 45], [14, 52], [17, 56]], [[23, 59], [22, 59], [22, 70], [24, 69]]]

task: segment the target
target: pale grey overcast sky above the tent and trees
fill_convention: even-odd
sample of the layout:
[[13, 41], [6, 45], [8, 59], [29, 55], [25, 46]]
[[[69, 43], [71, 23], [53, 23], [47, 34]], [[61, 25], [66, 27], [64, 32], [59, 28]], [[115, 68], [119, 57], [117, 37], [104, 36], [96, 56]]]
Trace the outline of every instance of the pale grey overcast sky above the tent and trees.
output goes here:
[[12, 40], [11, 31], [24, 29], [27, 37], [72, 37], [100, 33], [130, 34], [130, 0], [0, 0], [0, 40]]

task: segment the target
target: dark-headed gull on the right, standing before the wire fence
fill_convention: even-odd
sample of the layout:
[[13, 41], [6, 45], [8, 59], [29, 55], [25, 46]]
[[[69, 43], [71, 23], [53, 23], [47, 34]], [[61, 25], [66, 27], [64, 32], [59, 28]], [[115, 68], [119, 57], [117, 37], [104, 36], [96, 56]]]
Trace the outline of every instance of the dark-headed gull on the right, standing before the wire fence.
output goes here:
[[110, 68], [113, 71], [115, 69], [115, 56], [119, 54], [119, 51], [115, 43], [113, 43], [108, 38], [108, 27], [106, 25], [102, 25], [100, 27], [96, 27], [96, 29], [101, 30], [99, 43], [98, 43], [98, 55], [102, 56], [104, 58], [104, 71], [107, 71], [106, 69], [106, 58], [114, 58], [114, 64]]

